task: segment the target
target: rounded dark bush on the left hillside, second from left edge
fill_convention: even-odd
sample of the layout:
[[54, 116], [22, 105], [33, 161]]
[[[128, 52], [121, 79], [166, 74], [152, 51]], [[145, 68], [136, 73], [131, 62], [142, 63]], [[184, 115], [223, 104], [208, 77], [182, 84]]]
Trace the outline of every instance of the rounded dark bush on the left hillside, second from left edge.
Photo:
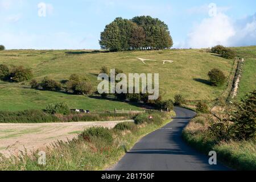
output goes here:
[[22, 81], [30, 80], [32, 78], [32, 76], [33, 75], [32, 75], [31, 69], [29, 69], [29, 68], [26, 69], [26, 68], [23, 68], [22, 66], [14, 67], [10, 74], [10, 77], [15, 82], [22, 82]]

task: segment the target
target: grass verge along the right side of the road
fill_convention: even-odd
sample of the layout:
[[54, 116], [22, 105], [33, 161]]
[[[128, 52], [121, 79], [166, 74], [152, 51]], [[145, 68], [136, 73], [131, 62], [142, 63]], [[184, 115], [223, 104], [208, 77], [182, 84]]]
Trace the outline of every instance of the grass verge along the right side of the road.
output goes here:
[[[203, 122], [204, 121], [204, 122]], [[209, 123], [204, 115], [192, 119], [183, 130], [184, 140], [197, 150], [208, 155], [209, 151], [216, 151], [217, 160], [230, 168], [238, 170], [256, 170], [256, 140], [216, 142], [205, 137]]]

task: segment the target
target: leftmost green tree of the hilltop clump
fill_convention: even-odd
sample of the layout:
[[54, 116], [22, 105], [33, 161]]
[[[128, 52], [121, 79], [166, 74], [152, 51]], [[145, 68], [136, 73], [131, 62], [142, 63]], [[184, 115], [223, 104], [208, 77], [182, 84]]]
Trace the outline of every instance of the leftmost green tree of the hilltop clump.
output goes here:
[[101, 32], [100, 46], [111, 52], [121, 51], [121, 35], [116, 22], [108, 24], [104, 32]]

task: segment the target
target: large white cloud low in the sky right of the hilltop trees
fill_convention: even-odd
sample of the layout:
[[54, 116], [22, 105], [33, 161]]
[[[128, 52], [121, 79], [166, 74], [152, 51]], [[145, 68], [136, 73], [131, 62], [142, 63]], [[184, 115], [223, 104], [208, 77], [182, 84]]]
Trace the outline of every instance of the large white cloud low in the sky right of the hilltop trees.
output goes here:
[[205, 18], [192, 29], [181, 47], [207, 48], [217, 44], [230, 47], [256, 45], [256, 14], [238, 21], [222, 13]]

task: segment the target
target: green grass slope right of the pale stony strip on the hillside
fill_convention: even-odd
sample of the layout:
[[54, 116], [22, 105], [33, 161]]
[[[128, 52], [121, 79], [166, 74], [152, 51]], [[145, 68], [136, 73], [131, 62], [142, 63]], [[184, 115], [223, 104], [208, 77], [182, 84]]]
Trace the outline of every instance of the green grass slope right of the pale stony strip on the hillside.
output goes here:
[[238, 89], [238, 100], [256, 89], [256, 46], [233, 48], [237, 55], [245, 59]]

